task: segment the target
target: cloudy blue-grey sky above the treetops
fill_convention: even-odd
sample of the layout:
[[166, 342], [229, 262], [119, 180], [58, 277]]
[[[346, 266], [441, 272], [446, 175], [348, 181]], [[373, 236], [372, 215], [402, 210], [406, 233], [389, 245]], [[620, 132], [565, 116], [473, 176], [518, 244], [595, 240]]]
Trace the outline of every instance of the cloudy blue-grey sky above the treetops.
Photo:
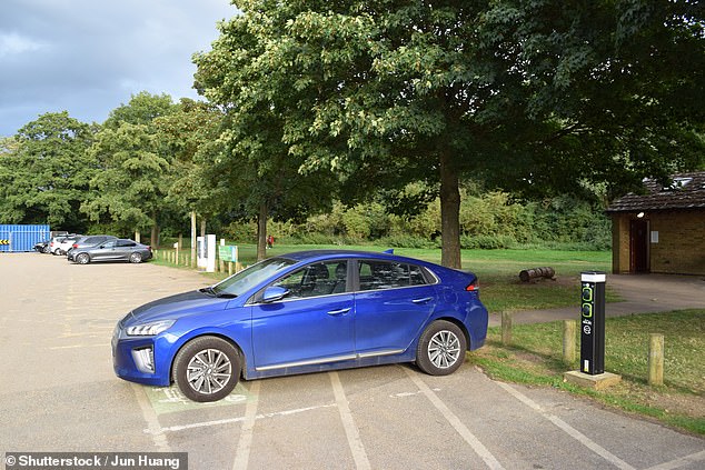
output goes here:
[[0, 0], [0, 137], [46, 112], [102, 122], [142, 90], [197, 98], [191, 54], [236, 12], [230, 0]]

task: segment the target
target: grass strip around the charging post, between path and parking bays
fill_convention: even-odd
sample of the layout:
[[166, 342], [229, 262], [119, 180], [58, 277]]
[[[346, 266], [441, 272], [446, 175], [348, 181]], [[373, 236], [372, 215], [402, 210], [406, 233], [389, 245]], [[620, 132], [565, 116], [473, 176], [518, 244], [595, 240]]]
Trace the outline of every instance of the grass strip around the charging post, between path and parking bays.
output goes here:
[[[647, 383], [649, 333], [665, 337], [663, 387]], [[563, 372], [577, 370], [577, 363], [563, 361], [562, 322], [515, 326], [512, 337], [512, 347], [505, 347], [500, 330], [490, 328], [487, 344], [468, 354], [470, 362], [495, 379], [589, 396], [605, 404], [705, 434], [705, 310], [607, 319], [605, 370], [620, 374], [622, 382], [602, 391], [563, 381]]]

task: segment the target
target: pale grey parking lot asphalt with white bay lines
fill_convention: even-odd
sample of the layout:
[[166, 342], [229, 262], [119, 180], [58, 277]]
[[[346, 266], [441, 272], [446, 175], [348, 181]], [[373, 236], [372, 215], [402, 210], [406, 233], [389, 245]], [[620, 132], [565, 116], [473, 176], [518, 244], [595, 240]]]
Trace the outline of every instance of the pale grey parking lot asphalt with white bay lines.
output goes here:
[[0, 452], [188, 452], [190, 469], [705, 467], [701, 438], [469, 364], [242, 381], [225, 400], [190, 402], [116, 378], [110, 337], [130, 309], [207, 278], [2, 253], [0, 279]]

